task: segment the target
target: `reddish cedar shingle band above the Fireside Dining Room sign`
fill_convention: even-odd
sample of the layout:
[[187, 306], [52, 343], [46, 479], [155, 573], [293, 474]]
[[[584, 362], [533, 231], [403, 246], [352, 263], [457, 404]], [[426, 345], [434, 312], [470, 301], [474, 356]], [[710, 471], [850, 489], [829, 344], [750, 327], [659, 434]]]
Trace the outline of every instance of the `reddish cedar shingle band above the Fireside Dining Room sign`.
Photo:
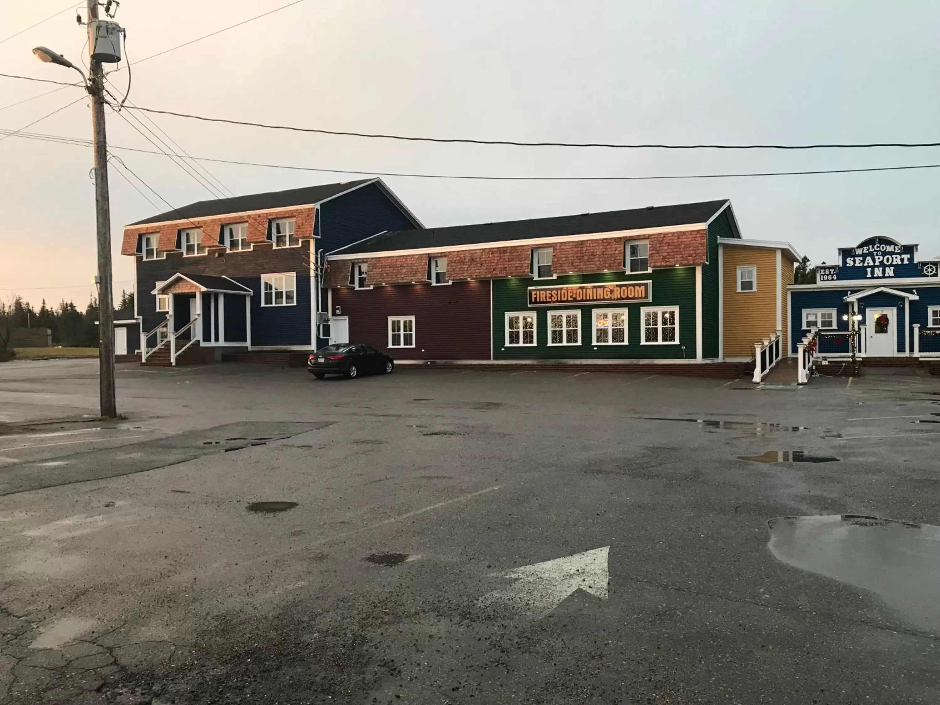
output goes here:
[[[427, 278], [428, 258], [431, 257], [447, 258], [447, 276], [451, 279], [490, 279], [527, 276], [533, 247], [545, 246], [552, 248], [552, 268], [556, 274], [584, 274], [622, 270], [623, 246], [628, 240], [650, 242], [651, 267], [685, 267], [705, 262], [705, 230], [653, 233], [642, 238], [599, 238], [551, 245], [523, 244], [397, 257], [369, 258], [364, 255], [358, 261], [368, 262], [368, 282], [373, 286], [424, 281]], [[333, 261], [327, 276], [327, 286], [349, 286], [351, 263], [349, 259]]]

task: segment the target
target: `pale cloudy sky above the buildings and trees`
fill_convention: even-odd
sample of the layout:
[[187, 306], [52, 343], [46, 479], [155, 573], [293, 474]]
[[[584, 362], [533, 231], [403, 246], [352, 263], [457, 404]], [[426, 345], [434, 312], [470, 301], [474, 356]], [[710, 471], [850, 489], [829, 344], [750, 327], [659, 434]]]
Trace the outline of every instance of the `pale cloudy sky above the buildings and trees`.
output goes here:
[[[132, 61], [286, 0], [123, 0]], [[76, 5], [84, 3], [76, 2]], [[64, 9], [0, 0], [0, 39]], [[331, 130], [525, 141], [818, 143], [940, 141], [935, 0], [306, 0], [133, 69], [131, 100], [211, 117]], [[42, 44], [73, 61], [66, 12], [0, 44], [0, 72], [60, 81]], [[112, 76], [123, 92], [127, 71]], [[74, 100], [0, 77], [0, 128]], [[483, 147], [280, 133], [153, 116], [190, 154], [361, 171], [651, 176], [940, 164], [940, 149], [719, 152]], [[86, 102], [27, 129], [89, 138]], [[2, 135], [0, 135], [2, 136]], [[152, 146], [117, 115], [115, 146]], [[173, 206], [211, 197], [160, 155], [114, 150]], [[0, 296], [84, 306], [95, 274], [91, 150], [0, 140]], [[236, 194], [361, 178], [205, 164]], [[871, 235], [940, 253], [940, 169], [659, 181], [466, 181], [388, 177], [426, 226], [613, 211], [728, 197], [744, 237], [785, 240], [814, 262]], [[157, 211], [111, 170], [118, 294], [132, 258], [122, 226]]]

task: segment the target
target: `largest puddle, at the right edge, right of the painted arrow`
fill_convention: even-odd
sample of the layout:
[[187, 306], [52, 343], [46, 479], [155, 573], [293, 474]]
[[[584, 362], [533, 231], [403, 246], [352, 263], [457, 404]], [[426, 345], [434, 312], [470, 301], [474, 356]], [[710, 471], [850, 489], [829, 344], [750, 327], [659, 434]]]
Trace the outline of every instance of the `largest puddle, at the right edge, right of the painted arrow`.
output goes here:
[[870, 590], [940, 635], [940, 527], [858, 514], [770, 520], [771, 553], [794, 568]]

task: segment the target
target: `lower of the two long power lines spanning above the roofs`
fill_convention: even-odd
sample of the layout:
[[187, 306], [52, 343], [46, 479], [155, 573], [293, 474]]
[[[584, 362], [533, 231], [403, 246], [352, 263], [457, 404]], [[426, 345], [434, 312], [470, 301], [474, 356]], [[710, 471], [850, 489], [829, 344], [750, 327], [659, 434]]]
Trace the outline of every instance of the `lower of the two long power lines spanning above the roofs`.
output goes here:
[[[0, 134], [12, 133], [12, 131], [0, 129]], [[39, 139], [46, 142], [55, 142], [58, 144], [71, 144], [83, 147], [90, 147], [88, 140], [81, 140], [77, 137], [61, 137], [58, 135], [39, 135], [35, 133], [17, 133], [17, 136], [28, 139]], [[2, 139], [2, 138], [0, 138]], [[154, 151], [152, 149], [138, 149], [133, 147], [120, 147], [118, 145], [109, 145], [109, 149], [123, 149], [125, 151], [135, 151], [141, 154], [164, 155], [164, 152]], [[405, 179], [452, 179], [452, 180], [483, 180], [483, 181], [655, 181], [655, 180], [697, 180], [697, 179], [741, 179], [747, 177], [778, 177], [778, 176], [814, 176], [823, 174], [863, 174], [878, 171], [910, 171], [917, 169], [937, 169], [940, 164], [904, 164], [901, 166], [863, 166], [852, 169], [812, 169], [804, 171], [756, 171], [756, 172], [738, 172], [731, 174], [670, 174], [664, 176], [576, 176], [576, 177], [546, 177], [546, 176], [475, 176], [464, 174], [415, 174], [397, 171], [356, 171], [353, 169], [326, 169], [318, 166], [297, 166], [294, 164], [265, 164], [263, 162], [245, 162], [234, 159], [216, 159], [213, 157], [191, 157], [197, 162], [209, 162], [213, 164], [236, 164], [239, 166], [260, 166], [271, 169], [287, 169], [291, 171], [315, 171], [327, 174], [352, 174], [355, 176], [382, 176], [382, 177], [401, 177]]]

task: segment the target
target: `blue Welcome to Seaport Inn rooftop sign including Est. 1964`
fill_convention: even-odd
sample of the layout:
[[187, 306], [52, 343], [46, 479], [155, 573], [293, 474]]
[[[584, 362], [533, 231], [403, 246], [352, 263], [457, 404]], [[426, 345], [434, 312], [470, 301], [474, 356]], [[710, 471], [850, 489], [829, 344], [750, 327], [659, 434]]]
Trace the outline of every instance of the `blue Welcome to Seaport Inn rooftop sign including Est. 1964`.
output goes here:
[[884, 237], [843, 247], [838, 256], [840, 264], [816, 269], [817, 281], [930, 277], [936, 276], [938, 269], [937, 262], [917, 261], [917, 245], [900, 244]]

